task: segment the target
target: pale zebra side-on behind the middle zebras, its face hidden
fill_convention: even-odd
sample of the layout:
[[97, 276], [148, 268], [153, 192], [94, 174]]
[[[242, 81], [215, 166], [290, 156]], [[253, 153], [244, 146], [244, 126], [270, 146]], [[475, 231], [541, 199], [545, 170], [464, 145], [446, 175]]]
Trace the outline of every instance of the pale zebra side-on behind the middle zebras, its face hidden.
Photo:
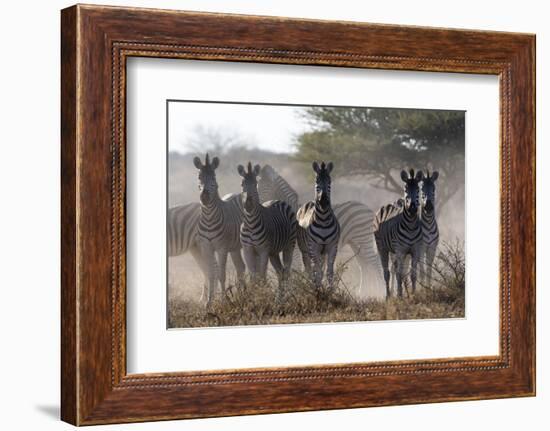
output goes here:
[[[298, 193], [270, 165], [264, 165], [260, 171], [258, 191], [262, 202], [280, 199], [289, 203], [294, 211], [298, 210]], [[375, 275], [379, 271], [378, 255], [372, 236], [374, 212], [357, 201], [334, 204], [332, 210], [340, 223], [338, 249], [341, 250], [346, 245], [352, 249], [361, 274], [358, 291], [362, 292], [367, 287], [369, 271], [375, 269], [372, 271]]]

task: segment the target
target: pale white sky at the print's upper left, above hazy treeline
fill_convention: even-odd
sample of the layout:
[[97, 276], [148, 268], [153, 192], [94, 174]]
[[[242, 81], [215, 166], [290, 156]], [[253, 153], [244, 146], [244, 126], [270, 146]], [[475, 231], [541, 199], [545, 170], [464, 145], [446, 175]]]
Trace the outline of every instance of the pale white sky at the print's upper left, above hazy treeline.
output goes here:
[[293, 151], [294, 136], [310, 130], [297, 106], [234, 103], [169, 102], [170, 151], [193, 151], [196, 130], [202, 127], [244, 138], [251, 147], [278, 153]]

